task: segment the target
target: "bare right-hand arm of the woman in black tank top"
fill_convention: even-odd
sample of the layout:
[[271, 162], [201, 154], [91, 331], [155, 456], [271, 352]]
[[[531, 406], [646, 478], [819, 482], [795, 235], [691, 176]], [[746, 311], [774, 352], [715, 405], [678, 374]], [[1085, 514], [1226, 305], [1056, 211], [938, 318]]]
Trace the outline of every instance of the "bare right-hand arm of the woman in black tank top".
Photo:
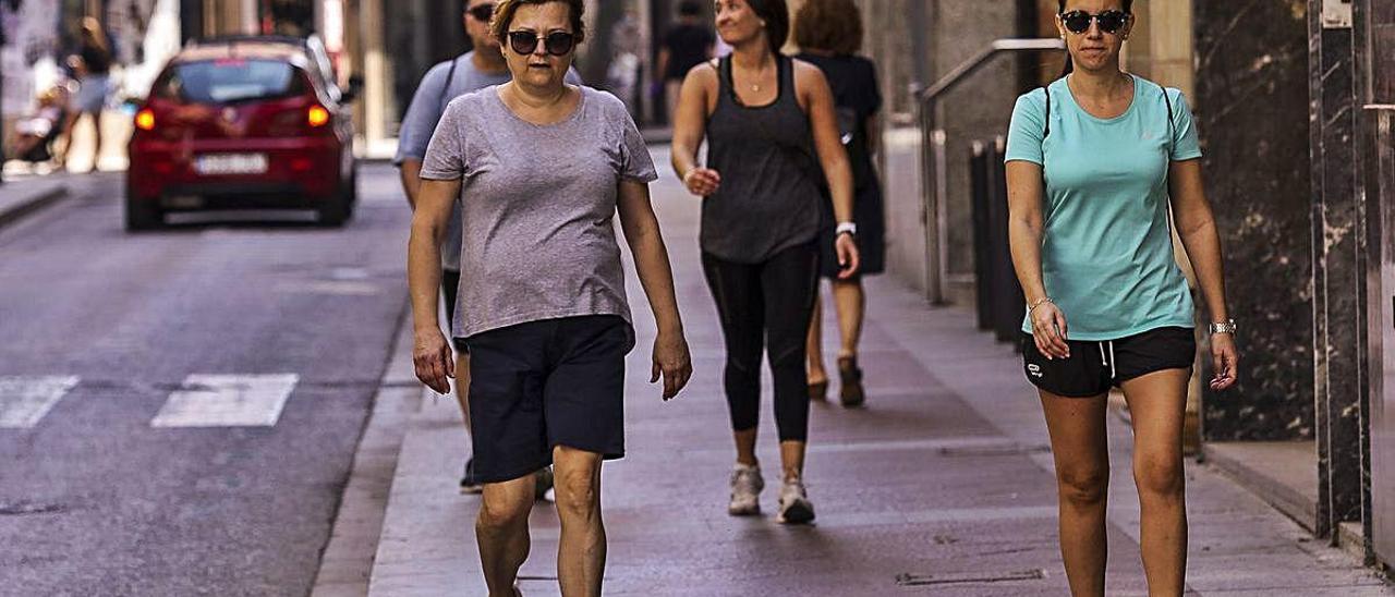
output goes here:
[[[823, 77], [823, 71], [812, 64], [795, 63], [798, 68], [795, 86], [804, 81], [804, 95], [809, 124], [813, 128], [813, 148], [819, 153], [819, 163], [823, 166], [823, 176], [829, 183], [829, 192], [833, 195], [833, 215], [838, 223], [852, 222], [852, 166], [848, 162], [848, 152], [843, 148], [843, 135], [838, 133], [837, 103], [833, 99], [833, 89]], [[858, 272], [857, 244], [847, 234], [838, 234], [838, 278], [847, 279]]]

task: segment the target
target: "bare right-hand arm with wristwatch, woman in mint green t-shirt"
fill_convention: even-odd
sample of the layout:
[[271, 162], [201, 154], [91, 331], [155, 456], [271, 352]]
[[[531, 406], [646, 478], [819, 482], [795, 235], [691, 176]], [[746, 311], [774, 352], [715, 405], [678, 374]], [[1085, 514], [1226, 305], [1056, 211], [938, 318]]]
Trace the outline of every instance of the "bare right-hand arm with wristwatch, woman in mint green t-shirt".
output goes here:
[[[1225, 298], [1225, 273], [1221, 255], [1221, 234], [1216, 232], [1211, 202], [1207, 201], [1201, 183], [1201, 160], [1189, 159], [1172, 162], [1168, 172], [1172, 194], [1172, 213], [1177, 222], [1177, 236], [1187, 248], [1191, 269], [1197, 272], [1197, 285], [1207, 303], [1211, 321], [1221, 324], [1230, 318]], [[1237, 356], [1233, 338], [1218, 333], [1211, 339], [1211, 353], [1216, 377], [1211, 381], [1214, 389], [1225, 389], [1235, 384]]]

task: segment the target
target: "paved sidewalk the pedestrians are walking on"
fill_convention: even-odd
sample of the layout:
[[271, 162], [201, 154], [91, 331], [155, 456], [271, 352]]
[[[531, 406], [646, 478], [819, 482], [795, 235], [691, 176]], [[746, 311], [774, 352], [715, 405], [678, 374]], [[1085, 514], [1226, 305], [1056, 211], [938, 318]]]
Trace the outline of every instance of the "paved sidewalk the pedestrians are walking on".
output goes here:
[[[656, 158], [667, 163], [661, 151]], [[762, 495], [766, 516], [727, 516], [734, 452], [721, 398], [720, 329], [696, 251], [698, 202], [664, 170], [653, 190], [696, 371], [668, 405], [646, 384], [654, 329], [632, 279], [639, 347], [629, 358], [629, 456], [604, 471], [605, 593], [1067, 594], [1045, 425], [1016, 356], [974, 331], [970, 311], [930, 310], [890, 278], [869, 280], [862, 353], [868, 407], [813, 409], [806, 478], [817, 524], [784, 527], [773, 517], [778, 455], [769, 375], [760, 438], [770, 485]], [[834, 338], [826, 343], [831, 354]], [[421, 400], [409, 425], [371, 594], [484, 594], [473, 537], [478, 498], [455, 488], [466, 439], [453, 400]], [[1109, 425], [1116, 466], [1109, 593], [1145, 594], [1130, 434], [1117, 417]], [[1395, 594], [1356, 559], [1307, 538], [1215, 471], [1189, 464], [1187, 473], [1189, 582], [1196, 593]], [[531, 529], [522, 587], [530, 597], [558, 594], [555, 511], [536, 508]]]

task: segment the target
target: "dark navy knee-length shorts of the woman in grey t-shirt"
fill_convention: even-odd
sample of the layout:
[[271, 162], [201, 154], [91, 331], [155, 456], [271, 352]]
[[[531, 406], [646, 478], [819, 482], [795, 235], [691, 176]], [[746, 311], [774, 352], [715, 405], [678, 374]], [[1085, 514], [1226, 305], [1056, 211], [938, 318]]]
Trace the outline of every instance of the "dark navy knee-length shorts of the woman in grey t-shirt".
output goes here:
[[565, 445], [625, 456], [625, 354], [633, 331], [615, 315], [492, 329], [470, 345], [470, 423], [480, 483], [519, 478]]

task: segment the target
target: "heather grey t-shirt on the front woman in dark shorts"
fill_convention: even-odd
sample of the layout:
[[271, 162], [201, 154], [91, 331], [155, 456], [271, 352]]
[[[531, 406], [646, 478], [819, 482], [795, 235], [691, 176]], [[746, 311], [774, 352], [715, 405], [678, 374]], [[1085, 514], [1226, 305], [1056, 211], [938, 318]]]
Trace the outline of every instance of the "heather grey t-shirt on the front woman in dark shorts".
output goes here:
[[622, 180], [658, 174], [625, 105], [580, 89], [572, 116], [537, 126], [490, 86], [451, 102], [431, 137], [421, 177], [462, 181], [455, 336], [564, 317], [629, 321], [615, 204]]

